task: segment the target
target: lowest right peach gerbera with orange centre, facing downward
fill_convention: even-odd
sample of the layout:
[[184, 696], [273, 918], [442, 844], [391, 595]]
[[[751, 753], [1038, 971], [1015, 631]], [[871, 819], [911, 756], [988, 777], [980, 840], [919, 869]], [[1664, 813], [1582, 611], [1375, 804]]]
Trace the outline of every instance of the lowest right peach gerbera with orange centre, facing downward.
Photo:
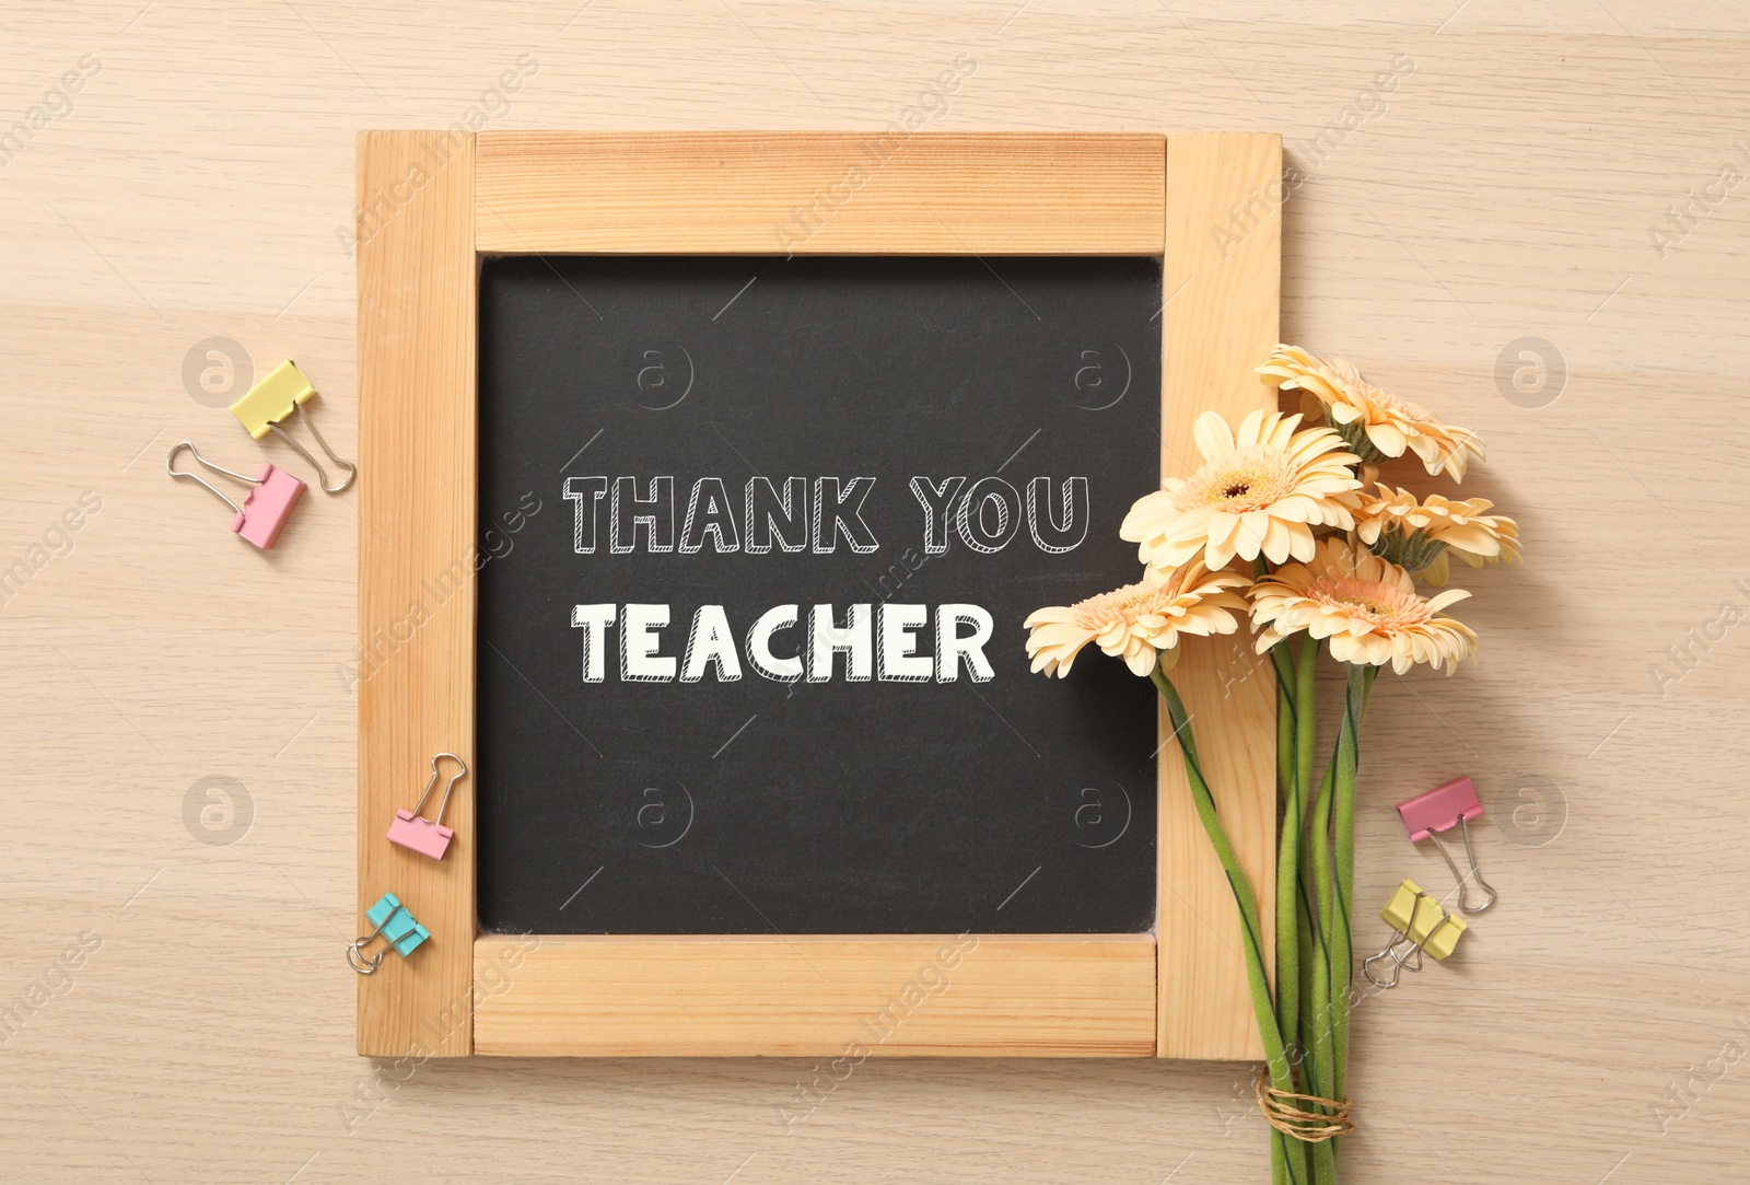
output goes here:
[[1332, 658], [1382, 667], [1398, 674], [1424, 662], [1458, 670], [1477, 651], [1477, 635], [1440, 609], [1468, 597], [1461, 588], [1433, 599], [1416, 593], [1410, 574], [1372, 551], [1339, 537], [1323, 539], [1311, 564], [1288, 564], [1248, 592], [1256, 649], [1306, 630], [1330, 639]]

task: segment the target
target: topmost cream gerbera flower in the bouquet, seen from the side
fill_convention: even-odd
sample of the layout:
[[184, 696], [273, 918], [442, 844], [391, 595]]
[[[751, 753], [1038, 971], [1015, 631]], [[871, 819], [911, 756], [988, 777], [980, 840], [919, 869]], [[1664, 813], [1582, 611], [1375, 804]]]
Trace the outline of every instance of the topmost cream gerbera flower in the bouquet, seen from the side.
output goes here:
[[1258, 368], [1264, 382], [1283, 390], [1304, 390], [1325, 404], [1326, 418], [1362, 460], [1416, 453], [1430, 474], [1442, 471], [1465, 480], [1465, 466], [1482, 460], [1482, 439], [1468, 427], [1442, 424], [1428, 408], [1374, 387], [1342, 359], [1321, 359], [1292, 345], [1279, 345]]

